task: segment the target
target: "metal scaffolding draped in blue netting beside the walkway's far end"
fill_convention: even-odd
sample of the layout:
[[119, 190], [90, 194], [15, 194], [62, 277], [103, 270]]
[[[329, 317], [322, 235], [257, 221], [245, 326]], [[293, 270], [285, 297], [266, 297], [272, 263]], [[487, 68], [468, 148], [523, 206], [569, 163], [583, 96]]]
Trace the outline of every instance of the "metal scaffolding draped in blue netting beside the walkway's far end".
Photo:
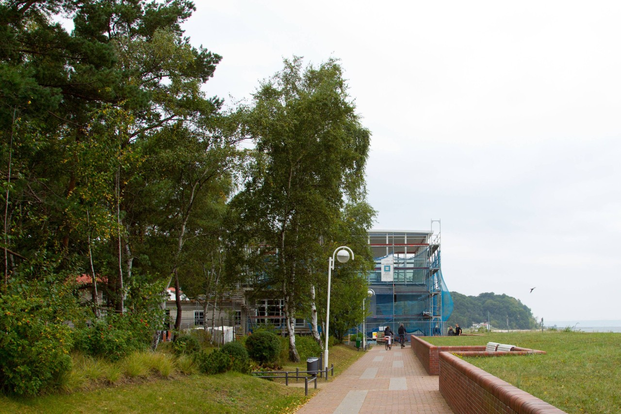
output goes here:
[[[433, 223], [438, 231], [433, 232]], [[374, 294], [366, 301], [366, 335], [390, 326], [420, 336], [446, 334], [453, 300], [442, 278], [440, 221], [430, 231], [371, 230], [368, 244], [375, 269], [368, 275]], [[392, 267], [392, 268], [391, 268]]]

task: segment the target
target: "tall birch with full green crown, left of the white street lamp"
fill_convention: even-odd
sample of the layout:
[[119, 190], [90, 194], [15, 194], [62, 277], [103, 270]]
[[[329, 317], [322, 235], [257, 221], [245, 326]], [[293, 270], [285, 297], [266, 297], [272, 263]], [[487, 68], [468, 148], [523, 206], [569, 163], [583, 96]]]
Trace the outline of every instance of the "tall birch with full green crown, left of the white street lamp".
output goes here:
[[[363, 200], [370, 134], [361, 126], [335, 59], [302, 68], [301, 58], [264, 81], [240, 109], [255, 163], [231, 203], [237, 248], [264, 287], [284, 299], [289, 359], [299, 361], [295, 321], [309, 310], [318, 240], [332, 239], [345, 200]], [[327, 257], [326, 257], [327, 259]]]

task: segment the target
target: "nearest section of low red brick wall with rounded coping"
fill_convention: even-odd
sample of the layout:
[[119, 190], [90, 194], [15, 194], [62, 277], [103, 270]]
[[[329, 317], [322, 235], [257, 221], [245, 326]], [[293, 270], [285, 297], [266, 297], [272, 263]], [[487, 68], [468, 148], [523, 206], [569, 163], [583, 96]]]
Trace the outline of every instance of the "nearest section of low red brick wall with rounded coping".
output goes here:
[[564, 413], [448, 352], [440, 353], [440, 393], [460, 414]]

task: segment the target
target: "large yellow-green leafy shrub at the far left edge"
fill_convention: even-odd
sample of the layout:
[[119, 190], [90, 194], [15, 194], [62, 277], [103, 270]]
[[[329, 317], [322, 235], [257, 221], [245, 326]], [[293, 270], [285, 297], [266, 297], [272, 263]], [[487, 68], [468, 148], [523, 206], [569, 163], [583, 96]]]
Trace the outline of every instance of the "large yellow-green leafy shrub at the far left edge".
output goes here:
[[62, 283], [13, 286], [0, 295], [0, 388], [35, 394], [71, 370], [71, 328], [65, 316], [76, 301]]

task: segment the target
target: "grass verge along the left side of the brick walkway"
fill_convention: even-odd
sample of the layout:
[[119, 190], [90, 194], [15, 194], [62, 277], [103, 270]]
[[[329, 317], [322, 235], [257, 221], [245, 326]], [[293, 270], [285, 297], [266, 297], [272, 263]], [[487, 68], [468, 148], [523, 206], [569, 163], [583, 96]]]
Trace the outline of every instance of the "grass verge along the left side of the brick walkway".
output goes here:
[[[335, 365], [335, 375], [362, 354], [351, 347], [332, 347], [330, 363]], [[306, 361], [303, 366], [306, 369]], [[0, 396], [0, 412], [289, 413], [306, 402], [310, 395], [311, 390], [309, 397], [304, 397], [303, 388], [284, 387], [275, 382], [227, 372], [220, 375], [191, 375], [173, 380], [103, 387], [92, 392], [75, 392], [69, 395], [34, 398]]]

